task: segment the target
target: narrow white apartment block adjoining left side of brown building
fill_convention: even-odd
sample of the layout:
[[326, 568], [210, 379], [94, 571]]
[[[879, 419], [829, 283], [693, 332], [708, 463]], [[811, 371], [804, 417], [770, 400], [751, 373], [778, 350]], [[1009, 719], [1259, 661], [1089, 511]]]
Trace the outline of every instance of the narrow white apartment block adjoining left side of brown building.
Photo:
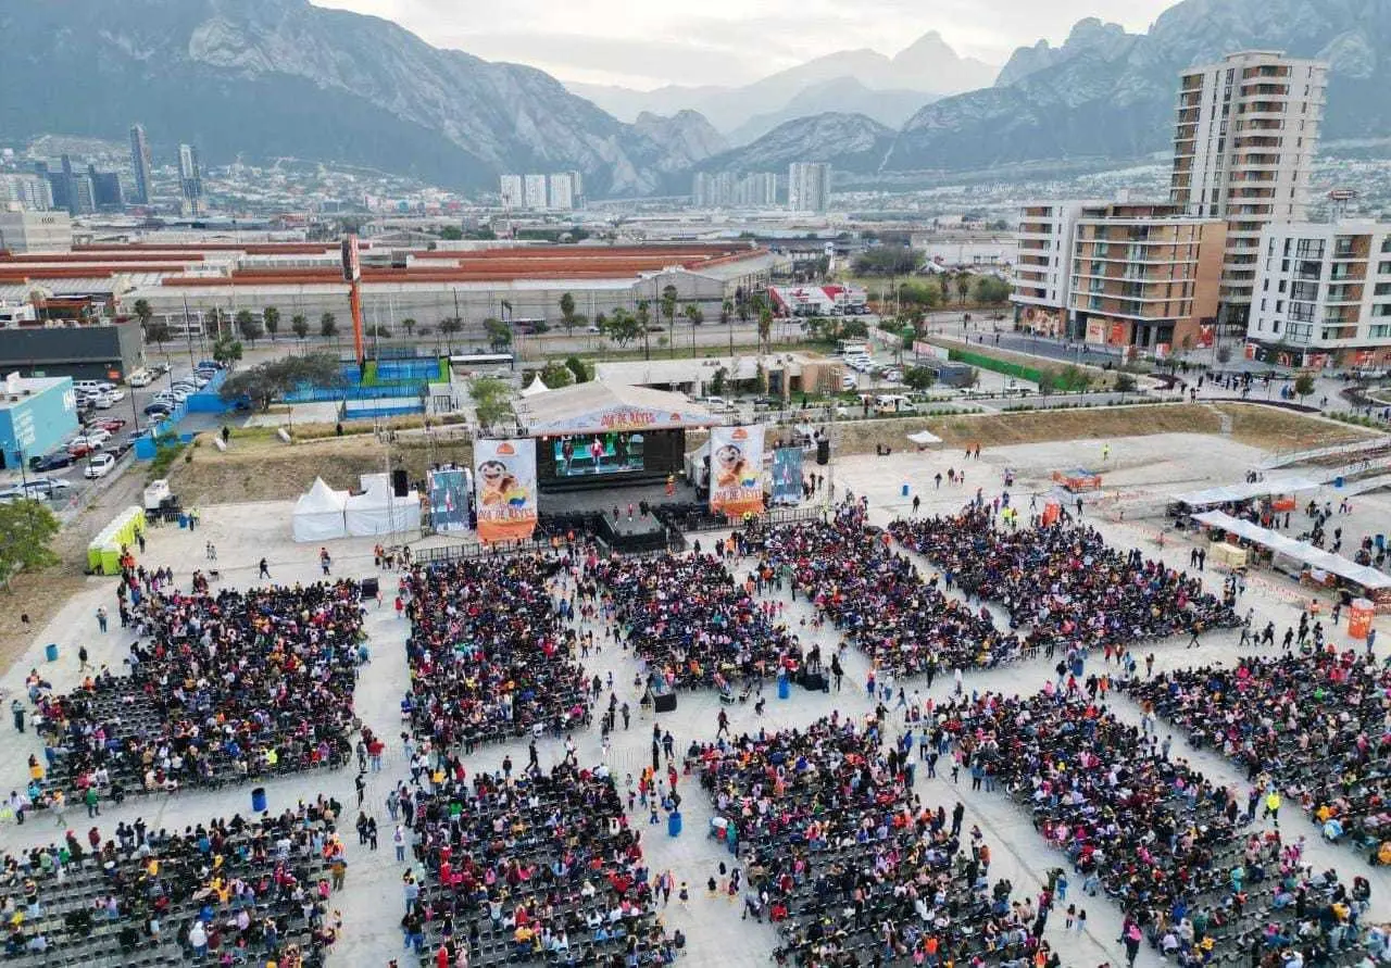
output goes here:
[[1035, 332], [1067, 334], [1067, 300], [1072, 289], [1072, 243], [1077, 220], [1106, 202], [1039, 202], [1020, 213], [1015, 234], [1014, 321]]

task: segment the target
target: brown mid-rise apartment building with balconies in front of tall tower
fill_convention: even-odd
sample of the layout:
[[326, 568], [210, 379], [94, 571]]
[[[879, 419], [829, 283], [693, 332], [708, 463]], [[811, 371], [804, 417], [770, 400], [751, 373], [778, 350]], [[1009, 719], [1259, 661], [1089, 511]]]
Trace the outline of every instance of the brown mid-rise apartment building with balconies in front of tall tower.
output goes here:
[[1212, 344], [1227, 225], [1167, 204], [1109, 204], [1077, 220], [1068, 330], [1167, 356]]

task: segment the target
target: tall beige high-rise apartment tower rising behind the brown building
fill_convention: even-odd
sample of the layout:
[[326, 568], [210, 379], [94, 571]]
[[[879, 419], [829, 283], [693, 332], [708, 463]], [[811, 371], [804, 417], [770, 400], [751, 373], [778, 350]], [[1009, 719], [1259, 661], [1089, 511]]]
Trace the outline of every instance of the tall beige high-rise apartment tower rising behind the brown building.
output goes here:
[[1308, 217], [1328, 65], [1249, 50], [1181, 74], [1170, 200], [1227, 221], [1223, 335], [1246, 327], [1260, 234]]

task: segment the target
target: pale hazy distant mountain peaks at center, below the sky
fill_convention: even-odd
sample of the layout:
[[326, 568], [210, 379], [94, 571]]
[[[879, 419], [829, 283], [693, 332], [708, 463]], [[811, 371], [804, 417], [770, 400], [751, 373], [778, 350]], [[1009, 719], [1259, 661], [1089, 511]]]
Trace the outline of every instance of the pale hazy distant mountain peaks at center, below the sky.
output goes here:
[[732, 143], [743, 145], [783, 121], [822, 111], [868, 114], [897, 128], [931, 100], [989, 85], [996, 70], [958, 56], [940, 33], [931, 31], [893, 57], [869, 49], [840, 50], [734, 88], [568, 88], [625, 121], [643, 111], [700, 111]]

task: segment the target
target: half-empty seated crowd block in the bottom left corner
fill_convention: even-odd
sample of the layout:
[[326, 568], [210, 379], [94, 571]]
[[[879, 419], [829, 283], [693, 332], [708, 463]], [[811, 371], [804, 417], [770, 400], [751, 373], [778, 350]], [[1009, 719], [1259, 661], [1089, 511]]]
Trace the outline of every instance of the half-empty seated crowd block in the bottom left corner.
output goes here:
[[342, 928], [330, 868], [338, 804], [182, 832], [143, 819], [4, 855], [0, 908], [14, 964], [323, 965]]

